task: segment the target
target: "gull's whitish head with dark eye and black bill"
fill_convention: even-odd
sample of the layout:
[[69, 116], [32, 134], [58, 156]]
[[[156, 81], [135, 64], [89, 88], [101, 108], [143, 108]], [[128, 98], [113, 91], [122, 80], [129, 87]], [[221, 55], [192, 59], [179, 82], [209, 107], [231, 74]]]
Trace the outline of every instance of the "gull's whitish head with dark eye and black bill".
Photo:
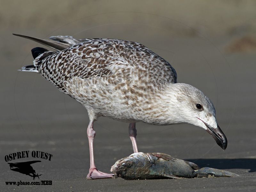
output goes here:
[[188, 123], [202, 127], [225, 150], [228, 144], [227, 138], [217, 124], [212, 101], [192, 85], [177, 83], [173, 84], [173, 88], [172, 94], [176, 102], [172, 108], [174, 110], [176, 108], [178, 114], [176, 123]]

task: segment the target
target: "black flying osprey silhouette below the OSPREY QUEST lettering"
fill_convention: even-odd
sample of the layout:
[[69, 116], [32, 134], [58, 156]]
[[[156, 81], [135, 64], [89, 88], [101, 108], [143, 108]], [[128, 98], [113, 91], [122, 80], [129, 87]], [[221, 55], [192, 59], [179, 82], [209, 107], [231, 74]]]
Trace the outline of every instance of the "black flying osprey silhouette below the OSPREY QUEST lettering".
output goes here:
[[[38, 175], [38, 173], [36, 174], [36, 171], [31, 166], [31, 164], [37, 163], [37, 162], [41, 162], [41, 161], [27, 161], [27, 162], [8, 163], [8, 164], [10, 165], [10, 169], [12, 171], [17, 171], [22, 174], [29, 175], [30, 177], [33, 177], [33, 180], [35, 180], [36, 177], [38, 177], [38, 179], [39, 179], [39, 176], [42, 175], [42, 174]], [[15, 168], [13, 168], [13, 167], [15, 167]]]

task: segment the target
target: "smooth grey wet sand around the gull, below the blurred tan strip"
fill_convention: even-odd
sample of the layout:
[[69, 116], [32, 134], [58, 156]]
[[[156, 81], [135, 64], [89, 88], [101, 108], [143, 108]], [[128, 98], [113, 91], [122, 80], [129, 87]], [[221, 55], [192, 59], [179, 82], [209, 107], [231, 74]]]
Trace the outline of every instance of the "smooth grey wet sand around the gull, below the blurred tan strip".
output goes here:
[[[57, 31], [40, 28], [29, 31], [10, 28], [1, 31], [1, 191], [255, 191], [255, 52], [226, 53], [233, 36], [171, 36], [163, 30], [148, 35], [132, 28], [113, 34], [104, 27], [83, 32], [79, 25]], [[42, 27], [43, 28], [43, 27]], [[100, 32], [99, 30], [100, 29]], [[105, 28], [107, 29], [107, 28]], [[56, 30], [56, 29], [55, 29]], [[52, 32], [54, 31], [54, 32]], [[78, 34], [75, 34], [79, 31]], [[176, 69], [178, 82], [202, 90], [214, 103], [218, 124], [228, 139], [225, 151], [203, 129], [188, 125], [153, 126], [138, 123], [139, 151], [162, 152], [186, 159], [200, 167], [208, 166], [239, 174], [236, 178], [202, 178], [169, 180], [86, 180], [89, 170], [87, 112], [79, 103], [59, 92], [39, 74], [18, 72], [32, 63], [30, 49], [37, 43], [12, 36], [11, 33], [44, 37], [74, 35], [109, 37], [139, 41], [168, 60]], [[51, 34], [50, 34], [51, 33]], [[48, 35], [50, 34], [50, 35]], [[160, 34], [160, 35], [159, 35]], [[170, 114], [171, 115], [171, 114]], [[128, 124], [108, 118], [95, 123], [95, 161], [98, 169], [109, 172], [116, 160], [132, 153]], [[5, 181], [33, 181], [27, 175], [10, 170], [4, 156], [24, 150], [52, 154], [51, 161], [33, 164], [39, 180], [52, 180], [52, 186], [6, 186]], [[31, 161], [34, 158], [22, 159]], [[13, 162], [20, 162], [18, 160]], [[35, 179], [37, 181], [38, 178]]]

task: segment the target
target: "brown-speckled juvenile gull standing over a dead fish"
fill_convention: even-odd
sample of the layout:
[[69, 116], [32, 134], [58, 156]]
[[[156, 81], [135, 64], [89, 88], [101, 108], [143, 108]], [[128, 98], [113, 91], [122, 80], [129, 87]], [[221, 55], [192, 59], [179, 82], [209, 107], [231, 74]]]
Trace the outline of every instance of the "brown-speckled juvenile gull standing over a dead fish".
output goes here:
[[211, 100], [192, 85], [177, 83], [176, 71], [170, 63], [144, 45], [116, 39], [52, 36], [52, 41], [17, 36], [57, 50], [32, 49], [33, 65], [20, 71], [41, 74], [88, 111], [90, 170], [87, 179], [113, 177], [98, 171], [94, 163], [93, 122], [100, 116], [130, 123], [134, 153], [138, 152], [136, 122], [193, 124], [209, 132], [217, 144], [226, 149], [227, 139], [217, 124]]

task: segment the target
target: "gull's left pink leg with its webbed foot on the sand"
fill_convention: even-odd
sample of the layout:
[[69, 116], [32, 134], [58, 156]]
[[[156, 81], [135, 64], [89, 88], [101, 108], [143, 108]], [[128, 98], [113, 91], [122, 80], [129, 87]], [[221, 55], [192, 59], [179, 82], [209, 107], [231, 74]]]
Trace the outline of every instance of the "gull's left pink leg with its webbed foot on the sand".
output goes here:
[[114, 177], [113, 174], [100, 172], [97, 170], [95, 166], [94, 156], [93, 156], [93, 138], [95, 137], [95, 131], [93, 130], [93, 121], [90, 121], [88, 125], [87, 136], [88, 136], [89, 148], [90, 148], [90, 170], [86, 179], [113, 178]]

